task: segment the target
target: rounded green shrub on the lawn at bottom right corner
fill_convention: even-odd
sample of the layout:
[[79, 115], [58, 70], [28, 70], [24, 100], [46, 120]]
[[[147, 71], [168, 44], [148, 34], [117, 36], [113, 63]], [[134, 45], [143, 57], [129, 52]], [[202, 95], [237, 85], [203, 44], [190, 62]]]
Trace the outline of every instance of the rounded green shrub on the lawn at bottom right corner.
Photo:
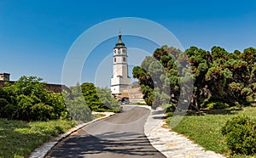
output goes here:
[[256, 152], [256, 121], [247, 116], [236, 116], [221, 129], [232, 152], [253, 155]]

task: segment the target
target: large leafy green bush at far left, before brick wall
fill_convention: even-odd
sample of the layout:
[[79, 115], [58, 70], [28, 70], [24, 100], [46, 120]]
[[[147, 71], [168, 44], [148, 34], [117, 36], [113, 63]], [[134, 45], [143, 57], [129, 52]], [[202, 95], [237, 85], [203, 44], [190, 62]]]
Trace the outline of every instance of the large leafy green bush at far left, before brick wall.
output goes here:
[[1, 117], [25, 121], [67, 118], [61, 94], [45, 89], [42, 80], [36, 76], [21, 76], [13, 85], [1, 88]]

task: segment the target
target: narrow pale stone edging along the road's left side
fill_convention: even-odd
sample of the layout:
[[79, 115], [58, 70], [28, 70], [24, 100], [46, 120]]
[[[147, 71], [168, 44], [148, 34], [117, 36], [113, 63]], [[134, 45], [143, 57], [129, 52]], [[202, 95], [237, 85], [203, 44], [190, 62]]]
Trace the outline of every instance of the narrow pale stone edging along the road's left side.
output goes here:
[[82, 127], [84, 127], [84, 126], [86, 126], [86, 125], [88, 125], [88, 124], [90, 124], [92, 122], [102, 120], [104, 118], [107, 118], [109, 116], [113, 116], [115, 114], [113, 112], [99, 112], [99, 113], [104, 114], [106, 116], [103, 116], [103, 117], [100, 117], [100, 118], [96, 118], [95, 120], [92, 120], [92, 121], [89, 121], [87, 123], [83, 123], [83, 124], [80, 124], [80, 125], [78, 125], [76, 127], [73, 127], [69, 132], [64, 133], [61, 136], [55, 138], [54, 141], [48, 142], [48, 143], [44, 143], [41, 147], [39, 147], [36, 150], [34, 150], [29, 157], [30, 158], [44, 158], [49, 153], [49, 151], [56, 144], [58, 144], [63, 138], [67, 138], [67, 136], [69, 136], [70, 134], [78, 131], [80, 128], [82, 128]]

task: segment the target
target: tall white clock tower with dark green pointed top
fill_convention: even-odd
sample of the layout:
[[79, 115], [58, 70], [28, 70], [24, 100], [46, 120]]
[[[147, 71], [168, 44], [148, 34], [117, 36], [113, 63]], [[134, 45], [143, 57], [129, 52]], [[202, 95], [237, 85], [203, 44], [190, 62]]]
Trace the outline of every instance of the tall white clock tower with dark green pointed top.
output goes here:
[[111, 78], [111, 93], [113, 95], [120, 94], [124, 89], [131, 88], [127, 57], [127, 48], [119, 31], [119, 40], [113, 48], [113, 77]]

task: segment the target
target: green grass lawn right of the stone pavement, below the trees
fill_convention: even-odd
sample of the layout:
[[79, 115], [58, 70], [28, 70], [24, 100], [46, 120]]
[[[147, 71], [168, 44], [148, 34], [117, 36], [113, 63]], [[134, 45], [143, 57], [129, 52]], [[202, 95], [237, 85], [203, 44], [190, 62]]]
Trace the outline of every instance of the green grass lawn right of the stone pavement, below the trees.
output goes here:
[[[196, 144], [200, 144], [206, 150], [212, 150], [229, 157], [246, 157], [245, 155], [230, 155], [230, 150], [224, 143], [224, 136], [220, 132], [221, 127], [224, 126], [227, 120], [238, 115], [256, 118], [256, 107], [246, 107], [241, 110], [209, 110], [200, 116], [184, 116], [183, 121], [172, 130], [188, 136], [189, 139]], [[172, 117], [168, 117], [166, 122], [170, 122], [171, 119]]]

